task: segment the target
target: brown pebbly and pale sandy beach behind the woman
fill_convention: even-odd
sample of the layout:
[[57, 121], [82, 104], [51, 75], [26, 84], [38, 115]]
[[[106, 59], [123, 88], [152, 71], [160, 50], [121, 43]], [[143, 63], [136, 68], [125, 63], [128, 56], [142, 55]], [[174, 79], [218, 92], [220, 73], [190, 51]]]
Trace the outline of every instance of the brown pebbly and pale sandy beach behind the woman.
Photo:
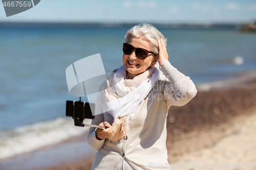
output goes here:
[[[208, 90], [198, 86], [197, 96], [187, 105], [169, 109], [166, 145], [172, 169], [256, 169], [256, 79], [228, 82], [222, 82], [223, 88], [216, 82], [206, 85]], [[87, 142], [87, 134], [72, 142], [74, 148]], [[33, 169], [91, 169], [94, 155], [90, 150], [71, 161]]]

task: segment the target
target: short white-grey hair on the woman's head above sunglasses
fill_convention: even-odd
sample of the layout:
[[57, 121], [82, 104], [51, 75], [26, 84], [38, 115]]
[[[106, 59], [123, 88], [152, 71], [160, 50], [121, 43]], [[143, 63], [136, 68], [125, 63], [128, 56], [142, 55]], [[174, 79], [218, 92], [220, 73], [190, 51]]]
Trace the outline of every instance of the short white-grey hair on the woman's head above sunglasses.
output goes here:
[[147, 23], [140, 23], [127, 31], [124, 42], [128, 42], [131, 37], [140, 38], [143, 37], [150, 42], [151, 51], [158, 55], [158, 40], [163, 39], [166, 46], [167, 38], [164, 38], [163, 34], [158, 31], [153, 25]]

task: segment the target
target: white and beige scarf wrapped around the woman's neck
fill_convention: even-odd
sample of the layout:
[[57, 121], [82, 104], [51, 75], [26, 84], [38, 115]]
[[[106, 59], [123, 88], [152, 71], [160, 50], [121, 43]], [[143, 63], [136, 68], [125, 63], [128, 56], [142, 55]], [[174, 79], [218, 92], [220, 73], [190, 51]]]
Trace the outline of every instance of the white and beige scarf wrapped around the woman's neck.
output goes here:
[[106, 108], [114, 118], [113, 132], [108, 140], [122, 141], [127, 136], [129, 123], [135, 116], [134, 110], [152, 90], [161, 75], [158, 63], [133, 79], [126, 79], [126, 69], [123, 65], [116, 72], [112, 72], [106, 80], [105, 89], [108, 101]]

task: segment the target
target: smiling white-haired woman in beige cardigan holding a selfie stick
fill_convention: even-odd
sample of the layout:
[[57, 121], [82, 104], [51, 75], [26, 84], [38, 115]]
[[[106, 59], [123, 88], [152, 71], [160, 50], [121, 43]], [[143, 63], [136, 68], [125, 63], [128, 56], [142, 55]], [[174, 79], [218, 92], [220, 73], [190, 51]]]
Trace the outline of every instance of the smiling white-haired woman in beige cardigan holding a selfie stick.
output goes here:
[[165, 46], [166, 39], [152, 25], [127, 31], [123, 65], [99, 87], [92, 124], [106, 129], [90, 128], [89, 145], [98, 150], [92, 169], [170, 168], [168, 109], [185, 105], [197, 89], [170, 64]]

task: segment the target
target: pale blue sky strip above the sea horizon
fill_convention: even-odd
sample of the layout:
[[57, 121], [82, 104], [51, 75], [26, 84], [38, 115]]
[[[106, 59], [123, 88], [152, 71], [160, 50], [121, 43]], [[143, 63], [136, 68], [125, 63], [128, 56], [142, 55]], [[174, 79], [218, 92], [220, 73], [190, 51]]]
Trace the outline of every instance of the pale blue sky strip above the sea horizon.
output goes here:
[[0, 6], [0, 22], [248, 22], [256, 20], [255, 0], [84, 1], [41, 0], [14, 16]]

